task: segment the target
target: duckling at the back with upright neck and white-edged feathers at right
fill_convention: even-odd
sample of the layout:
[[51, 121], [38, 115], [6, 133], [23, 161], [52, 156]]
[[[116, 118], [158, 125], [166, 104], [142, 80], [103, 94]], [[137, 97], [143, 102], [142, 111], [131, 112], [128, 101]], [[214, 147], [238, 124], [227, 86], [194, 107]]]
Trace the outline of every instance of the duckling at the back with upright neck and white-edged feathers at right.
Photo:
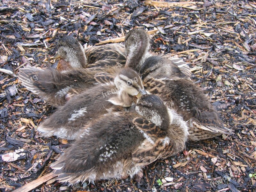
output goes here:
[[[149, 52], [149, 36], [141, 28], [135, 28], [129, 31], [125, 36], [124, 45], [127, 58], [125, 65], [137, 72], [156, 71], [159, 74], [184, 78], [189, 78], [191, 75], [190, 68], [185, 62], [181, 62], [181, 59], [167, 59], [166, 56], [156, 56], [152, 52]], [[147, 60], [147, 63], [150, 63], [150, 60], [152, 60], [155, 65], [142, 68], [141, 66], [145, 60]]]

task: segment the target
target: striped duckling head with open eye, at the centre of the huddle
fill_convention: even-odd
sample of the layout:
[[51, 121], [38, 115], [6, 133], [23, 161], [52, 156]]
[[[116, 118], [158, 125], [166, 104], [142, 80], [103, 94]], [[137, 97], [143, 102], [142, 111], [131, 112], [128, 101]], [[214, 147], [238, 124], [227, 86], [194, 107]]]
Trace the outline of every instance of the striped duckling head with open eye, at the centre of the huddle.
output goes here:
[[120, 92], [126, 92], [138, 98], [147, 94], [140, 76], [131, 68], [125, 67], [120, 69], [114, 79], [114, 84]]

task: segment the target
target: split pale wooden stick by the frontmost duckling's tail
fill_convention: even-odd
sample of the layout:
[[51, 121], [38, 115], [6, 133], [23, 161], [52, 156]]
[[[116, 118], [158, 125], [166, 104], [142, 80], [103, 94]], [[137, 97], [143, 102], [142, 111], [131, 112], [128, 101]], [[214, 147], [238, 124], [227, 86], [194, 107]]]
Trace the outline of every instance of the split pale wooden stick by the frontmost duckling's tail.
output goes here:
[[28, 192], [35, 188], [37, 188], [39, 185], [42, 185], [48, 180], [51, 180], [53, 178], [57, 177], [57, 175], [54, 175], [53, 173], [49, 173], [47, 175], [44, 175], [43, 177], [40, 177], [34, 181], [31, 181], [30, 183], [23, 185], [22, 187], [12, 191], [12, 192]]

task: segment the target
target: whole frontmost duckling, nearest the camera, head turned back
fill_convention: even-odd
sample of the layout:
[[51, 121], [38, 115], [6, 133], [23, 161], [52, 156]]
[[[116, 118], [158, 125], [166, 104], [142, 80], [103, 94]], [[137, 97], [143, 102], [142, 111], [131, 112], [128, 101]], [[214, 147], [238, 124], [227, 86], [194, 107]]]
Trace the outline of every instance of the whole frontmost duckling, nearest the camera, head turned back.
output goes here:
[[86, 126], [51, 165], [60, 182], [133, 177], [143, 167], [185, 148], [188, 126], [155, 95], [143, 95], [138, 114], [110, 112]]

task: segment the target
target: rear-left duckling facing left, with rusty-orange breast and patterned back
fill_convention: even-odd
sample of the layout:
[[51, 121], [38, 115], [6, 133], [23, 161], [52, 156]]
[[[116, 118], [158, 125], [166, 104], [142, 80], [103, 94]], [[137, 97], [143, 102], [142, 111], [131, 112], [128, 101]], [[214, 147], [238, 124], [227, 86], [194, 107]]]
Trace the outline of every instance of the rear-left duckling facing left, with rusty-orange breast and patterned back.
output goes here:
[[53, 59], [61, 57], [57, 69], [122, 66], [125, 64], [124, 45], [109, 44], [89, 47], [83, 46], [73, 36], [63, 36], [58, 42], [58, 52]]

